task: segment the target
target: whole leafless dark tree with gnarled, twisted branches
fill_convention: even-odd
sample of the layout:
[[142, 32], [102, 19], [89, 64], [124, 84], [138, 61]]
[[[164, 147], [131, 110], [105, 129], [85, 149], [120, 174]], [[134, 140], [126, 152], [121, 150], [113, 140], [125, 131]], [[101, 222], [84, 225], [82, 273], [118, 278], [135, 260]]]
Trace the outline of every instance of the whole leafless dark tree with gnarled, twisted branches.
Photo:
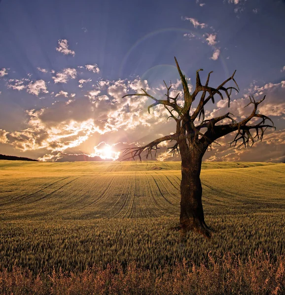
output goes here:
[[[165, 81], [164, 84], [167, 88], [166, 99], [157, 99], [148, 94], [144, 89], [143, 93], [127, 94], [125, 96], [147, 96], [154, 100], [154, 103], [148, 107], [150, 108], [157, 105], [164, 105], [169, 112], [169, 118], [173, 118], [176, 121], [176, 132], [174, 134], [166, 135], [158, 138], [151, 143], [136, 148], [126, 148], [124, 150], [125, 158], [142, 160], [142, 153], [146, 152], [146, 158], [151, 155], [153, 150], [158, 149], [158, 145], [164, 141], [173, 141], [175, 144], [169, 148], [170, 152], [179, 152], [181, 155], [181, 184], [180, 184], [180, 225], [178, 229], [181, 232], [181, 237], [185, 237], [185, 234], [189, 230], [201, 233], [206, 237], [211, 236], [211, 230], [205, 223], [204, 211], [202, 206], [202, 185], [200, 180], [200, 172], [202, 165], [202, 157], [208, 148], [212, 149], [212, 144], [215, 141], [234, 131], [236, 132], [234, 140], [231, 145], [238, 148], [241, 146], [248, 147], [249, 143], [252, 144], [255, 141], [262, 140], [264, 131], [268, 128], [275, 128], [273, 121], [265, 115], [261, 115], [257, 112], [258, 105], [264, 100], [255, 101], [253, 96], [249, 96], [250, 102], [247, 106], [253, 106], [253, 110], [248, 118], [245, 118], [237, 122], [231, 117], [231, 113], [227, 113], [223, 116], [211, 119], [205, 119], [205, 106], [212, 100], [214, 103], [214, 95], [218, 94], [221, 99], [224, 99], [226, 95], [228, 99], [228, 107], [230, 106], [230, 96], [232, 90], [239, 92], [239, 87], [234, 79], [235, 72], [231, 77], [226, 79], [217, 88], [209, 87], [209, 79], [212, 72], [208, 74], [208, 78], [205, 85], [201, 84], [199, 69], [196, 72], [196, 88], [192, 94], [190, 94], [187, 79], [182, 74], [177, 59], [175, 62], [178, 68], [180, 79], [183, 86], [183, 106], [178, 105], [176, 97], [170, 97], [170, 87], [167, 87]], [[236, 87], [226, 87], [225, 84], [229, 81], [233, 81]], [[223, 91], [223, 92], [222, 92]], [[201, 98], [196, 109], [191, 109], [192, 103], [200, 93]], [[190, 115], [192, 113], [192, 115]], [[232, 115], [233, 116], [233, 115]], [[270, 123], [266, 123], [266, 121]], [[226, 123], [227, 122], [227, 123]], [[229, 123], [230, 122], [230, 123]], [[253, 124], [248, 124], [248, 123]], [[272, 123], [272, 125], [271, 125]], [[253, 132], [254, 134], [252, 134]]]

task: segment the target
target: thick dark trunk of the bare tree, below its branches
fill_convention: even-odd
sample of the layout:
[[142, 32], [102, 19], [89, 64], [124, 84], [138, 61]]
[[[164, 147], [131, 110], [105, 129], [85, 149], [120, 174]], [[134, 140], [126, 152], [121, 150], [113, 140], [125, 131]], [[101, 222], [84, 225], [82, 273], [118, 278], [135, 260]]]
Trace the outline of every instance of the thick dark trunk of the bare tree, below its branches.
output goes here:
[[199, 149], [181, 150], [181, 202], [180, 229], [184, 239], [187, 231], [195, 231], [210, 237], [210, 228], [205, 223], [202, 206], [202, 185], [200, 172], [204, 152]]

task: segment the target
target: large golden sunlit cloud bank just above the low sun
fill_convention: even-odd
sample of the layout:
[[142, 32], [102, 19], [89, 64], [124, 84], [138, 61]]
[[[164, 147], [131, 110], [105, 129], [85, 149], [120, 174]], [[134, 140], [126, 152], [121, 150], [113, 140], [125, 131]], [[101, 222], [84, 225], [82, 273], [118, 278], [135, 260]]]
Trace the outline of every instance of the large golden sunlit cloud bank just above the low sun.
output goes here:
[[[101, 86], [107, 84], [110, 86], [110, 91], [104, 90], [107, 95], [97, 96], [101, 91], [98, 85], [89, 93], [89, 96], [94, 95], [92, 99], [81, 97], [68, 102], [56, 101], [50, 107], [28, 111], [28, 128], [5, 134], [7, 143], [24, 151], [45, 148], [52, 152], [64, 152], [67, 148], [81, 145], [94, 133], [150, 126], [151, 121], [159, 121], [165, 115], [157, 111], [159, 114], [149, 115], [145, 106], [147, 98], [122, 99], [119, 96], [119, 93], [125, 94], [141, 86], [148, 89], [145, 81], [135, 79], [100, 83]], [[59, 94], [67, 96], [64, 91]]]

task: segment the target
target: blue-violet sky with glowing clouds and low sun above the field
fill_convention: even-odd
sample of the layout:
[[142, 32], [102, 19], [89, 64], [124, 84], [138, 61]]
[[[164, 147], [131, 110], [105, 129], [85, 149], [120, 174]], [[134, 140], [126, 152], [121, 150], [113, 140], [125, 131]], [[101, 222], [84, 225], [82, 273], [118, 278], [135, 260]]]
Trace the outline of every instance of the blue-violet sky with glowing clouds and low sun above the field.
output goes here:
[[[211, 87], [237, 70], [230, 108], [218, 96], [206, 118], [243, 119], [249, 95], [266, 95], [259, 112], [276, 126], [251, 148], [221, 138], [203, 160], [285, 162], [284, 15], [284, 0], [0, 0], [0, 153], [120, 160], [174, 133], [164, 108], [148, 114], [150, 98], [122, 96], [163, 99], [163, 80], [182, 93], [176, 57], [190, 90], [200, 68]], [[167, 144], [153, 159], [179, 160]]]

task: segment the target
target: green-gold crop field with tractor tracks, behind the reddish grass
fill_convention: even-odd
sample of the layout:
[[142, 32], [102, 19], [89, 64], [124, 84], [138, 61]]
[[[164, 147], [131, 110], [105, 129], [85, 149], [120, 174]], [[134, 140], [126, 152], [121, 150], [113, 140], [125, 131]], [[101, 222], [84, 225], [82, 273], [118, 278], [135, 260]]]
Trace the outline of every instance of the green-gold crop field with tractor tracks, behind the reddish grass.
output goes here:
[[225, 255], [236, 255], [241, 266], [254, 255], [280, 262], [285, 164], [203, 163], [205, 219], [216, 233], [210, 240], [190, 233], [186, 245], [171, 230], [178, 225], [180, 179], [179, 162], [1, 160], [1, 274], [17, 266], [31, 275], [83, 273], [111, 263], [170, 274], [179, 263], [220, 265]]

